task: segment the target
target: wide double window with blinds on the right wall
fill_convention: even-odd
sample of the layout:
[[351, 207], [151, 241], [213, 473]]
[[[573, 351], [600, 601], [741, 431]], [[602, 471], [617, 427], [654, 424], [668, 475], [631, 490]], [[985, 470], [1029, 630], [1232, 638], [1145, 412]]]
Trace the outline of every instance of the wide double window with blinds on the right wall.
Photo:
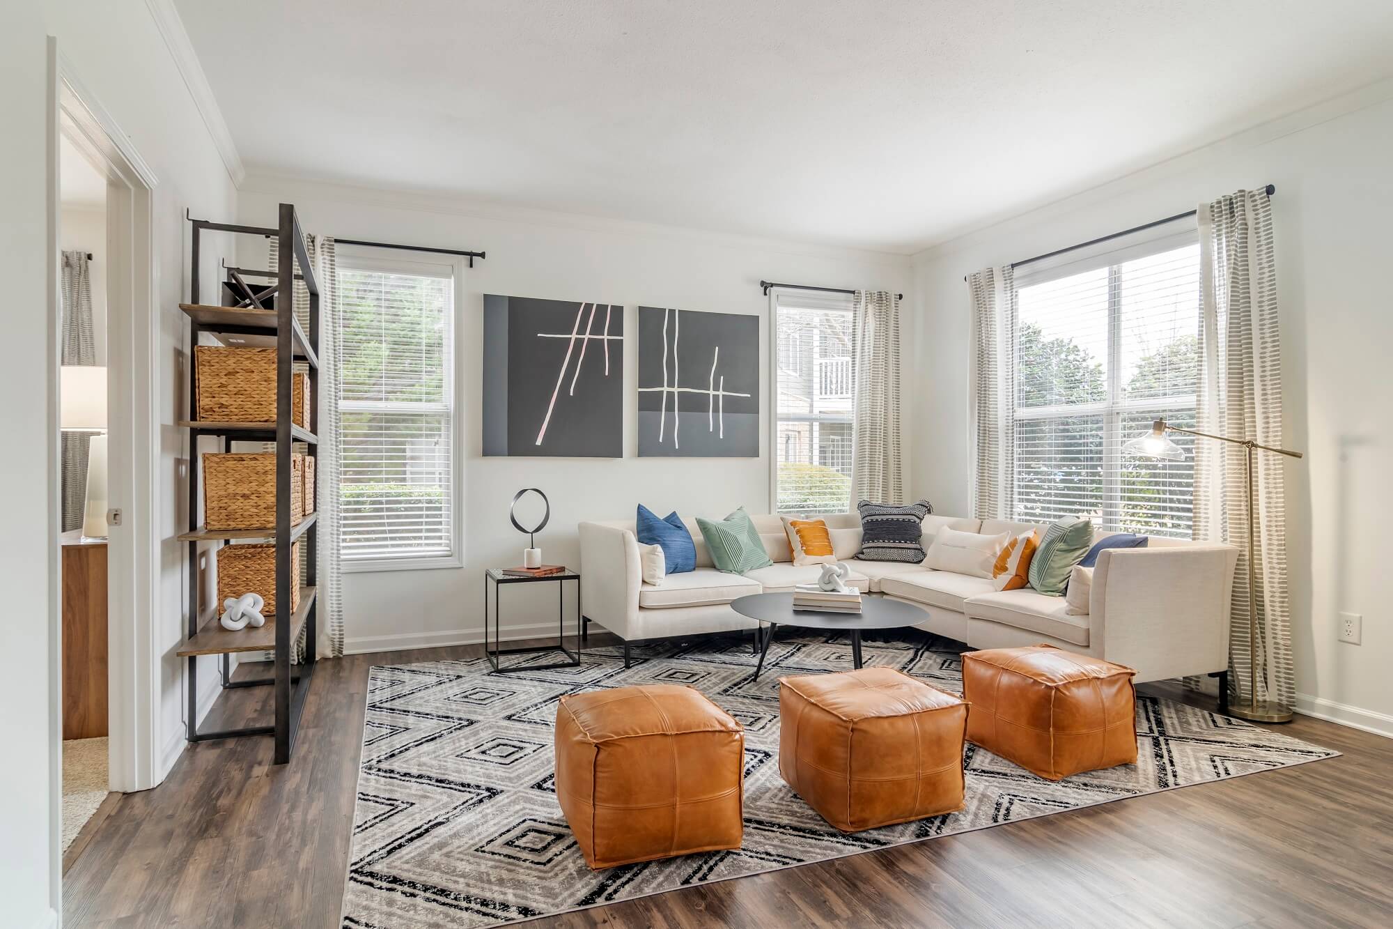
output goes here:
[[[1194, 229], [1018, 273], [1015, 287], [1015, 518], [1188, 538], [1194, 458], [1123, 458], [1121, 444], [1159, 416], [1194, 427]], [[1190, 452], [1190, 437], [1173, 438]]]

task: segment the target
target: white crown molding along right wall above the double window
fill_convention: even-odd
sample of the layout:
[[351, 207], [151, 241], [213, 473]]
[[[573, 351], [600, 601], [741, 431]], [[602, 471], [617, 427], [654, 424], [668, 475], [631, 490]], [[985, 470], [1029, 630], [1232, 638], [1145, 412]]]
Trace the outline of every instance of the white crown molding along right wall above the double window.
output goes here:
[[[1328, 98], [1319, 103], [1304, 106], [1284, 116], [1259, 123], [1208, 145], [1190, 149], [1188, 152], [1153, 162], [1100, 184], [1075, 190], [1046, 202], [1025, 205], [1006, 216], [995, 216], [976, 225], [965, 226], [960, 232], [950, 233], [932, 246], [914, 252], [910, 255], [910, 262], [918, 268], [919, 265], [946, 258], [964, 248], [988, 241], [1006, 226], [1022, 222], [1049, 222], [1077, 209], [1085, 209], [1094, 204], [1142, 190], [1167, 177], [1195, 170], [1223, 156], [1259, 148], [1279, 138], [1302, 133], [1322, 123], [1329, 123], [1330, 120], [1386, 103], [1387, 100], [1393, 100], [1393, 78], [1383, 78], [1354, 91]], [[1254, 179], [1254, 183], [1265, 180], [1268, 179], [1258, 177]], [[1280, 192], [1277, 195], [1280, 197]], [[1195, 191], [1195, 202], [1204, 199], [1204, 191]]]

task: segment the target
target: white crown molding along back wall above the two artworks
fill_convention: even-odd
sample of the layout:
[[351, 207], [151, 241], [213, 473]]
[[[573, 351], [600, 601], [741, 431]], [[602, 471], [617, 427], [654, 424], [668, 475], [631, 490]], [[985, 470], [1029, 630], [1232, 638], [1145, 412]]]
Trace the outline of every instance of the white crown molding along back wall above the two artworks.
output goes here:
[[[286, 202], [298, 202], [305, 198], [327, 199], [343, 204], [376, 206], [380, 209], [408, 209], [414, 212], [440, 213], [446, 216], [468, 216], [472, 219], [485, 219], [492, 222], [553, 226], [557, 229], [575, 229], [582, 232], [621, 236], [642, 236], [646, 239], [662, 237], [703, 241], [717, 247], [745, 250], [758, 248], [761, 251], [788, 255], [830, 258], [840, 261], [864, 261], [905, 272], [910, 269], [910, 255], [903, 252], [873, 251], [869, 248], [854, 248], [850, 246], [801, 243], [786, 239], [768, 239], [741, 233], [692, 229], [688, 226], [666, 226], [662, 223], [614, 219], [607, 216], [595, 216], [591, 213], [567, 213], [560, 211], [536, 209], [532, 206], [514, 206], [508, 204], [469, 199], [465, 197], [451, 197], [449, 194], [428, 194], [422, 191], [325, 181], [297, 174], [251, 174], [241, 184], [238, 184], [238, 192], [279, 197]], [[332, 230], [325, 230], [326, 234]], [[345, 230], [338, 232], [345, 236], [348, 234]]]

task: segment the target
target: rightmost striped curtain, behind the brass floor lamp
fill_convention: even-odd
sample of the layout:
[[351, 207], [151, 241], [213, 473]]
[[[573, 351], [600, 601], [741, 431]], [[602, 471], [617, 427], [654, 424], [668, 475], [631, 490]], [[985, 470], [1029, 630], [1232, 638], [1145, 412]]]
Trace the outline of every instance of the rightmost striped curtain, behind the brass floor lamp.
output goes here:
[[[1202, 321], [1197, 425], [1202, 432], [1282, 446], [1282, 350], [1266, 191], [1240, 190], [1202, 204], [1199, 247]], [[1287, 589], [1283, 458], [1256, 452], [1256, 531], [1248, 551], [1247, 449], [1195, 442], [1195, 538], [1240, 550], [1229, 633], [1230, 692], [1250, 699], [1250, 654], [1258, 656], [1259, 700], [1291, 706], [1295, 677]], [[1258, 642], [1250, 651], [1248, 573], [1256, 586]]]

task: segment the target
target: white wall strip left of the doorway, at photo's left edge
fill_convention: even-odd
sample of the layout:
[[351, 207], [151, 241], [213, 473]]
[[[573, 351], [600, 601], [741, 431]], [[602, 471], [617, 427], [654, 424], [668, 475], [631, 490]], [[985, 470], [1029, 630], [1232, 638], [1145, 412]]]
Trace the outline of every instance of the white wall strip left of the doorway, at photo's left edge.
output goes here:
[[[49, 343], [49, 264], [53, 236], [47, 186], [47, 53], [42, 13], [6, 8], [0, 28], [0, 280], [6, 287], [6, 338], [0, 339], [0, 389], [6, 442], [26, 455], [0, 459], [0, 587], [7, 621], [0, 653], [0, 721], [7, 763], [0, 764], [0, 923], [50, 925], [57, 902], [56, 851], [49, 841], [49, 780], [54, 760], [50, 696], [49, 607], [57, 538], [52, 536], [49, 417], [40, 400], [56, 378]], [[28, 402], [18, 402], [26, 398]], [[52, 399], [52, 398], [50, 398]]]

